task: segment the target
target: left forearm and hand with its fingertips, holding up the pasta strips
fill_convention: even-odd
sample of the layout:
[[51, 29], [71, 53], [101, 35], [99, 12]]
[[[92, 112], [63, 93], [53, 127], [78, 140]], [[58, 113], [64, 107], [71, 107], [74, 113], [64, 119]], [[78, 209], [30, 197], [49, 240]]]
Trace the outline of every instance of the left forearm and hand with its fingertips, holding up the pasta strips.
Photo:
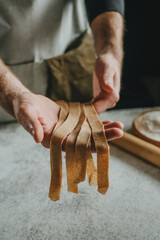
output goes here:
[[[1, 60], [0, 67], [1, 106], [17, 119], [37, 143], [41, 142], [49, 148], [51, 134], [59, 117], [59, 106], [47, 97], [30, 92]], [[105, 121], [103, 124], [108, 141], [123, 135], [121, 122]]]

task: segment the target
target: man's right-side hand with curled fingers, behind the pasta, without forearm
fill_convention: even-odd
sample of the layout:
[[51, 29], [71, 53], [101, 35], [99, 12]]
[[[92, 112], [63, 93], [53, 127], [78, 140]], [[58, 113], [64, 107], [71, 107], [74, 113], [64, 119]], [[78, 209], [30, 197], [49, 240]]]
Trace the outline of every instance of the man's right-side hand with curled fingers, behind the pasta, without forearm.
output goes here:
[[120, 66], [112, 53], [100, 55], [93, 74], [93, 103], [98, 113], [113, 108], [119, 100]]

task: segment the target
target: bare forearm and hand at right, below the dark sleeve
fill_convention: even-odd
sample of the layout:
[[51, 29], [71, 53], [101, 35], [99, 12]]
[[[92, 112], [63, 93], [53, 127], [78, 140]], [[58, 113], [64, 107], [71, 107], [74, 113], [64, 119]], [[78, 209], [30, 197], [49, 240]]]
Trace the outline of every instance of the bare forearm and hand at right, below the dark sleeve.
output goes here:
[[91, 24], [98, 56], [93, 73], [93, 102], [98, 113], [113, 108], [119, 100], [123, 25], [117, 12], [100, 14]]

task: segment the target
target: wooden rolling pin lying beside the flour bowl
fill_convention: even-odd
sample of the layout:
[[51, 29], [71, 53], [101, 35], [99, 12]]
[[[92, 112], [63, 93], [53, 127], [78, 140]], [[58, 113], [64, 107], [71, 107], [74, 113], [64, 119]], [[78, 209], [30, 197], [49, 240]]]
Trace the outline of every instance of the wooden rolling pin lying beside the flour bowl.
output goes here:
[[146, 142], [127, 132], [124, 132], [122, 138], [113, 140], [112, 143], [127, 152], [130, 152], [160, 167], [160, 147], [157, 147], [152, 143]]

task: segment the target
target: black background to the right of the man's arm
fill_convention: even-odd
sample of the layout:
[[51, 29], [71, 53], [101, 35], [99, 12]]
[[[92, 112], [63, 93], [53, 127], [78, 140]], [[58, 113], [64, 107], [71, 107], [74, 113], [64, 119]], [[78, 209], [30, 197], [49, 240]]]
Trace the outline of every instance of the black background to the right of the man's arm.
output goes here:
[[116, 108], [160, 105], [158, 3], [158, 0], [126, 1], [122, 89]]

